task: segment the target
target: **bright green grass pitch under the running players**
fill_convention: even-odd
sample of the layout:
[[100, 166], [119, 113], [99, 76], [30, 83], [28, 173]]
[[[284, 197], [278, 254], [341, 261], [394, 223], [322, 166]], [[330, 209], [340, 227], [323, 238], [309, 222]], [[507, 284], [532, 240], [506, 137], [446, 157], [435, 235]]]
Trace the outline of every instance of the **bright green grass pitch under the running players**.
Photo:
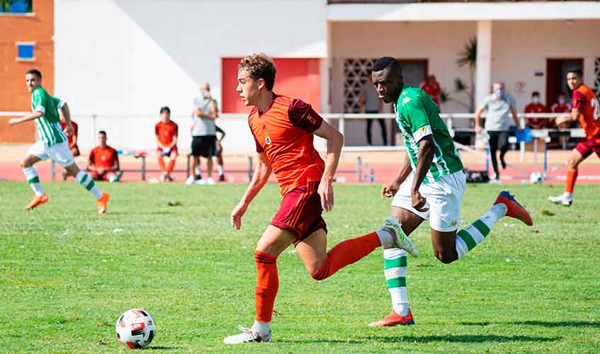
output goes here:
[[[382, 251], [322, 282], [293, 249], [278, 258], [273, 343], [224, 346], [251, 325], [256, 241], [279, 202], [267, 185], [229, 225], [244, 185], [101, 184], [109, 213], [75, 183], [45, 183], [50, 203], [26, 212], [26, 183], [0, 182], [0, 351], [119, 353], [114, 324], [140, 307], [157, 321], [157, 353], [593, 353], [600, 348], [597, 185], [577, 186], [570, 208], [550, 205], [559, 187], [511, 186], [534, 226], [502, 219], [451, 265], [434, 258], [429, 227], [412, 238], [407, 286], [417, 326], [371, 329], [390, 309]], [[329, 247], [373, 231], [389, 214], [378, 185], [336, 185], [326, 215]], [[469, 185], [461, 226], [493, 202], [497, 186]], [[181, 206], [168, 206], [179, 200]], [[553, 214], [553, 215], [551, 215]]]

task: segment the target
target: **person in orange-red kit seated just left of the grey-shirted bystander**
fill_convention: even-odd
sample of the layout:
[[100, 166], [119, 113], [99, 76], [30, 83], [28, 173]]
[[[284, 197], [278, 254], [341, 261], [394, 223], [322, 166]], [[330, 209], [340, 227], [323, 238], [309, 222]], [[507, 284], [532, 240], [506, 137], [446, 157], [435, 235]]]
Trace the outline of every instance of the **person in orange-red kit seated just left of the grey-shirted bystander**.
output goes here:
[[[171, 173], [175, 169], [175, 161], [177, 159], [177, 135], [179, 128], [177, 123], [171, 120], [171, 109], [163, 107], [160, 109], [160, 122], [154, 126], [154, 134], [157, 136], [157, 157], [159, 161], [162, 176], [161, 182], [173, 181]], [[164, 166], [164, 157], [169, 158], [169, 164]]]

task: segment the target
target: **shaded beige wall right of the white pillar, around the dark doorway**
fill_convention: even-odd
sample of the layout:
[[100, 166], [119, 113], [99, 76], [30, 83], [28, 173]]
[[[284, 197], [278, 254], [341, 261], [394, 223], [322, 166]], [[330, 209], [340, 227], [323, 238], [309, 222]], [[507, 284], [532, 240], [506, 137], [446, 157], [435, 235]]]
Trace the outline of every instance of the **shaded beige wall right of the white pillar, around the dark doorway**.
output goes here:
[[[600, 57], [598, 28], [597, 20], [494, 22], [492, 81], [506, 83], [519, 112], [531, 101], [531, 91], [540, 91], [545, 101], [546, 59], [584, 58], [584, 69], [590, 68], [584, 70], [584, 82], [591, 86], [594, 57]], [[533, 76], [534, 72], [544, 76]], [[516, 91], [517, 81], [525, 82], [524, 91]]]

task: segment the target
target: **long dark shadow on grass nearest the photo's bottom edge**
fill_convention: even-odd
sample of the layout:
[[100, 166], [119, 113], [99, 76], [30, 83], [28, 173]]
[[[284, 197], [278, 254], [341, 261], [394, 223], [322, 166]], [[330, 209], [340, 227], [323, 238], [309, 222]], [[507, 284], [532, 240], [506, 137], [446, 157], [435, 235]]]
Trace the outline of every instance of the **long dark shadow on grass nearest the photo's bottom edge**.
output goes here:
[[531, 337], [531, 336], [495, 336], [495, 335], [460, 335], [460, 336], [368, 336], [362, 339], [349, 339], [346, 341], [339, 339], [314, 339], [299, 341], [278, 341], [285, 343], [341, 343], [341, 344], [364, 344], [366, 341], [375, 341], [381, 343], [432, 343], [432, 342], [450, 342], [450, 343], [504, 343], [504, 342], [551, 342], [559, 341], [560, 337]]

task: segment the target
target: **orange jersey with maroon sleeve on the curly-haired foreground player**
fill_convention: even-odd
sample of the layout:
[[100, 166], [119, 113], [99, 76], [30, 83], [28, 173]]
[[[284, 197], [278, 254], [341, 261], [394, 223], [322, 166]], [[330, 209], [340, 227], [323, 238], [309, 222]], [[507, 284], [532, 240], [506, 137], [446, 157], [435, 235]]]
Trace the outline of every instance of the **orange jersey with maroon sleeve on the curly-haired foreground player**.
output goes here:
[[260, 112], [254, 107], [248, 117], [256, 152], [264, 152], [279, 182], [281, 195], [321, 181], [325, 163], [313, 145], [313, 132], [323, 118], [310, 104], [273, 93], [273, 101]]

